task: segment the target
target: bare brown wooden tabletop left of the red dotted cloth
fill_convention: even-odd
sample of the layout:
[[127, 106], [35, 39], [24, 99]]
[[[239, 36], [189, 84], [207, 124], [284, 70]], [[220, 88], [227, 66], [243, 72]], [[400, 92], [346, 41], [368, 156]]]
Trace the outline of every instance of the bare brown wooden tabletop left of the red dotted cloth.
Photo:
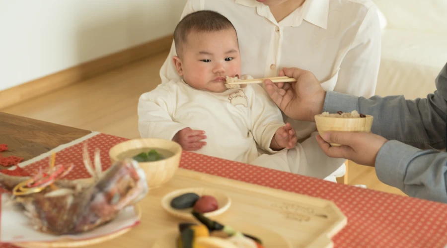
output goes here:
[[88, 133], [90, 131], [0, 112], [0, 144], [8, 145], [8, 150], [1, 153], [3, 157], [14, 155], [28, 160]]

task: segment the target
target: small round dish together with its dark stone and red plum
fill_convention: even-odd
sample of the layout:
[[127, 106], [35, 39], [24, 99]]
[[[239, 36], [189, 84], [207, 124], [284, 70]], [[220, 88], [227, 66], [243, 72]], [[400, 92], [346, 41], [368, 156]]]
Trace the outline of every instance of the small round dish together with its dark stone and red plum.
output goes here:
[[194, 219], [191, 211], [217, 216], [231, 205], [230, 198], [223, 192], [212, 188], [184, 188], [166, 194], [161, 200], [163, 209], [181, 219]]

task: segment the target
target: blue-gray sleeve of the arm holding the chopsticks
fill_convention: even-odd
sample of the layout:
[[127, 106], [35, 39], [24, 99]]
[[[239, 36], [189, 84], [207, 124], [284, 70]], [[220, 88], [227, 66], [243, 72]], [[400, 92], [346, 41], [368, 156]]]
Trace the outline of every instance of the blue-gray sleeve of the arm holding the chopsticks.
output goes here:
[[446, 147], [447, 64], [436, 78], [437, 91], [427, 98], [405, 100], [404, 96], [349, 96], [327, 92], [323, 111], [372, 115], [372, 132], [419, 148]]

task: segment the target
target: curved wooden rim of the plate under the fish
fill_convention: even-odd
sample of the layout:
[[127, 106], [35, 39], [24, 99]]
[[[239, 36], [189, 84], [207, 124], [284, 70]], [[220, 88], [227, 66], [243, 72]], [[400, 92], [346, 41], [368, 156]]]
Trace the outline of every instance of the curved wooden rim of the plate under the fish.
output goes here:
[[[135, 213], [138, 218], [141, 220], [141, 207], [136, 204], [134, 205]], [[107, 225], [107, 224], [106, 224]], [[133, 227], [128, 227], [125, 229], [121, 229], [115, 233], [108, 234], [105, 236], [95, 237], [91, 239], [85, 240], [73, 240], [73, 239], [61, 239], [53, 242], [22, 242], [22, 243], [13, 243], [14, 246], [21, 248], [72, 248], [72, 247], [86, 247], [92, 246], [95, 244], [103, 243], [129, 232]]]

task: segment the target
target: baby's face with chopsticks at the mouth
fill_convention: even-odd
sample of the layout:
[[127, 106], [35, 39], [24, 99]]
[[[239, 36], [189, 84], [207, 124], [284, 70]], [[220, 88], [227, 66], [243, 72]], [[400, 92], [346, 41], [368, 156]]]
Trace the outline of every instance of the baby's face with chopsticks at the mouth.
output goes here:
[[224, 92], [227, 90], [225, 77], [241, 74], [236, 32], [233, 29], [192, 31], [183, 44], [181, 61], [175, 63], [179, 75], [191, 87]]

